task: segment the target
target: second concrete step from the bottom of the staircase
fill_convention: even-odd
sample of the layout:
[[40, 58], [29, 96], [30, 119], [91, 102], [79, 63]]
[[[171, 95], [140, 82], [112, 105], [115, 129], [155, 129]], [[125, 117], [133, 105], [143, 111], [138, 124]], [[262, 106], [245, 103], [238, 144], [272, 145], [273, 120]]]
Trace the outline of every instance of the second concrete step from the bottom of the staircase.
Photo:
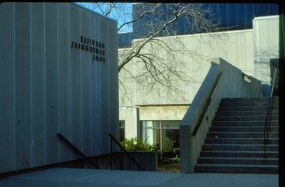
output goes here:
[[227, 158], [200, 157], [198, 164], [249, 164], [249, 165], [278, 165], [278, 159], [260, 158]]

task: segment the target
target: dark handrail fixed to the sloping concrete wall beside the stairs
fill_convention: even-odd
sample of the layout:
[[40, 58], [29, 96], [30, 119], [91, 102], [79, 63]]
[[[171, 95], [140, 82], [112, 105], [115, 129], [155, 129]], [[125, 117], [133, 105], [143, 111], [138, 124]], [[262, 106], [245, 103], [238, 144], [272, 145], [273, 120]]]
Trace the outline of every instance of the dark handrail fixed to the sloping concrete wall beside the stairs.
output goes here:
[[206, 112], [207, 112], [207, 109], [208, 109], [208, 107], [209, 107], [209, 103], [210, 103], [211, 100], [212, 100], [212, 95], [214, 94], [214, 90], [215, 90], [216, 87], [217, 87], [217, 84], [218, 84], [218, 82], [219, 82], [219, 78], [221, 78], [221, 75], [222, 75], [222, 71], [219, 73], [219, 75], [218, 75], [216, 81], [214, 82], [214, 85], [213, 85], [213, 87], [212, 87], [212, 90], [209, 92], [209, 95], [208, 95], [208, 98], [207, 98], [207, 102], [204, 104], [204, 107], [203, 107], [202, 112], [201, 112], [201, 114], [200, 114], [200, 116], [199, 116], [198, 122], [197, 122], [197, 124], [196, 124], [196, 126], [195, 126], [195, 129], [193, 130], [193, 133], [192, 133], [192, 136], [193, 136], [193, 137], [196, 136], [196, 134], [197, 134], [197, 132], [198, 132], [198, 129], [199, 129], [199, 127], [200, 127], [201, 124], [202, 124], [202, 120], [204, 119], [204, 115], [205, 115]]

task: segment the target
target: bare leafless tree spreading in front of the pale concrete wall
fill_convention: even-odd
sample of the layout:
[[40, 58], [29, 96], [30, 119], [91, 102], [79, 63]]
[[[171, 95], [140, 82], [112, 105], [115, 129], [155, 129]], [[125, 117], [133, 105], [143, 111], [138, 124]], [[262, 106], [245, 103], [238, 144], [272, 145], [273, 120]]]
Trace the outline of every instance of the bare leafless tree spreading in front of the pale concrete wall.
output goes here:
[[[91, 9], [100, 10], [105, 16], [111, 11], [117, 15], [127, 15], [121, 4], [92, 4]], [[187, 56], [205, 60], [196, 50], [190, 50], [182, 41], [177, 24], [192, 33], [212, 33], [222, 31], [218, 23], [212, 23], [207, 18], [211, 14], [209, 9], [203, 9], [203, 4], [140, 4], [135, 10], [135, 16], [118, 26], [118, 31], [134, 24], [140, 29], [140, 35], [135, 36], [132, 47], [120, 50], [118, 71], [120, 73], [120, 93], [132, 100], [128, 92], [140, 92], [147, 101], [150, 97], [157, 100], [165, 97], [167, 100], [185, 100], [185, 90], [180, 85], [194, 87], [191, 65], [187, 64]], [[133, 10], [134, 11], [134, 10]], [[178, 29], [177, 29], [178, 28]], [[212, 35], [211, 37], [220, 37]], [[208, 42], [208, 41], [204, 41]], [[130, 67], [136, 67], [134, 68]], [[135, 80], [135, 88], [128, 82]], [[136, 89], [136, 90], [134, 90]], [[122, 99], [122, 98], [121, 98]]]

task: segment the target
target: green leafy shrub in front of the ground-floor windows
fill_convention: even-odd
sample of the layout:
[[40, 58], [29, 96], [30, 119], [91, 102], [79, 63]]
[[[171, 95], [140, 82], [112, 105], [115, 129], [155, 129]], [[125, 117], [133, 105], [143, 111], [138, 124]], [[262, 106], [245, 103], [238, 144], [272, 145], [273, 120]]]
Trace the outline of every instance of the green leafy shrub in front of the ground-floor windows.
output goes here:
[[147, 139], [145, 139], [145, 141], [142, 141], [139, 138], [125, 139], [123, 141], [120, 141], [120, 144], [127, 151], [155, 151], [156, 150], [155, 146], [147, 143]]

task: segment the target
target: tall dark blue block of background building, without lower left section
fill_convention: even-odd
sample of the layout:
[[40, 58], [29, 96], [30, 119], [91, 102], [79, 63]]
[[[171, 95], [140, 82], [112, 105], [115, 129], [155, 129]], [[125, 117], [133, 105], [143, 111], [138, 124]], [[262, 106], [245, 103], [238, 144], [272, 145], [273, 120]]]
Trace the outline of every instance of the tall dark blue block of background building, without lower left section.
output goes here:
[[[183, 5], [187, 4], [180, 4]], [[271, 16], [279, 14], [279, 7], [277, 4], [269, 3], [205, 3], [205, 4], [191, 4], [194, 9], [199, 9], [205, 18], [211, 23], [216, 24], [219, 27], [224, 28], [225, 31], [234, 31], [252, 28], [252, 19], [259, 16]], [[180, 6], [177, 6], [179, 10]], [[155, 8], [154, 14], [146, 14], [140, 18], [140, 21], [133, 23], [133, 37], [141, 38], [145, 37], [147, 32], [150, 31], [150, 26], [146, 27], [142, 23], [151, 23], [155, 25], [153, 29], [159, 28], [163, 24], [162, 20], [167, 18], [161, 18], [159, 15], [167, 15], [165, 12], [174, 11], [174, 7], [171, 4], [145, 4], [138, 3], [133, 4], [133, 19], [138, 18], [143, 11], [149, 11]], [[158, 27], [157, 27], [158, 26]], [[173, 26], [170, 26], [172, 30], [175, 30], [177, 35], [204, 33], [204, 30], [197, 28], [193, 19], [182, 16], [175, 21]]]

